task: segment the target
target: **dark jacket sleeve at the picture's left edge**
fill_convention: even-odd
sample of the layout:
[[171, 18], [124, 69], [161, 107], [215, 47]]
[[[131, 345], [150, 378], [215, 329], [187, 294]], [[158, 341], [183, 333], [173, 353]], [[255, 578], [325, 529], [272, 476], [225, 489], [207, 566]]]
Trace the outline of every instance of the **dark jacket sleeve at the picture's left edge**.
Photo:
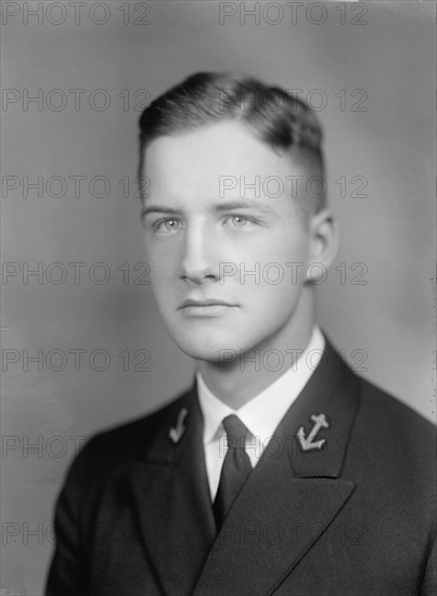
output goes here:
[[[55, 549], [46, 584], [46, 596], [87, 596], [88, 565], [85, 553], [81, 503], [92, 472], [89, 441], [73, 462], [57, 497], [54, 514]], [[88, 479], [87, 479], [88, 478]]]

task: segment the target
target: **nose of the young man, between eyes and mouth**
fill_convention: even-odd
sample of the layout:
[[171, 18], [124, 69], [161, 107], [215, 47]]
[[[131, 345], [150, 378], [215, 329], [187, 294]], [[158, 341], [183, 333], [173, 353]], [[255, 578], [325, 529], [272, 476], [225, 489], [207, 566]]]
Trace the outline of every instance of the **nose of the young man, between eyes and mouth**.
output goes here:
[[183, 281], [203, 284], [218, 278], [214, 259], [215, 239], [201, 222], [187, 229], [181, 258], [180, 277]]

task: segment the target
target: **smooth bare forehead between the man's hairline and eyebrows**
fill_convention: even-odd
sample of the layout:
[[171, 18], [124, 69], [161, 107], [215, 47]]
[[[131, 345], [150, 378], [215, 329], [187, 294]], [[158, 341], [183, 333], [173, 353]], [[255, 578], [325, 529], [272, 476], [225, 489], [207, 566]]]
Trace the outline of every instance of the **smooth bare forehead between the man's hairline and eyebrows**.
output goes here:
[[226, 121], [159, 137], [145, 152], [145, 176], [153, 194], [181, 196], [190, 193], [216, 193], [223, 179], [232, 177], [237, 187], [279, 177], [298, 176], [288, 155], [279, 155], [243, 125]]

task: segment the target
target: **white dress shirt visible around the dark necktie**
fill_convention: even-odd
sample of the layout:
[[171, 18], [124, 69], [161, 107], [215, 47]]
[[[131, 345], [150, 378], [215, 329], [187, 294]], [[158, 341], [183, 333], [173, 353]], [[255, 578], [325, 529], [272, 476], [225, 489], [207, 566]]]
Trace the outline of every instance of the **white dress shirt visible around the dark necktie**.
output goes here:
[[227, 452], [226, 431], [221, 424], [223, 418], [235, 414], [247, 427], [246, 452], [252, 466], [255, 467], [275, 428], [319, 364], [324, 345], [321, 331], [314, 327], [311, 339], [301, 354], [295, 353], [294, 358], [292, 358], [293, 353], [284, 354], [284, 364], [287, 362], [286, 357], [290, 355], [290, 367], [285, 373], [239, 410], [232, 410], [216, 398], [206, 386], [201, 373], [196, 373], [198, 401], [204, 417], [206, 471], [213, 501], [217, 493]]

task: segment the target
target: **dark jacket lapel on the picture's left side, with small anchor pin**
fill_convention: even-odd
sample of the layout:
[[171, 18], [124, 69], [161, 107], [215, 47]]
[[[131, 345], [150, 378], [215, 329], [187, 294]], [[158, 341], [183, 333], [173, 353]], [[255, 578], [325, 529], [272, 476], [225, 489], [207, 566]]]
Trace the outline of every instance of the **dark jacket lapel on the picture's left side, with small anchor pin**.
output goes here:
[[144, 461], [129, 472], [146, 555], [169, 596], [192, 594], [216, 536], [202, 432], [193, 387], [170, 406]]

